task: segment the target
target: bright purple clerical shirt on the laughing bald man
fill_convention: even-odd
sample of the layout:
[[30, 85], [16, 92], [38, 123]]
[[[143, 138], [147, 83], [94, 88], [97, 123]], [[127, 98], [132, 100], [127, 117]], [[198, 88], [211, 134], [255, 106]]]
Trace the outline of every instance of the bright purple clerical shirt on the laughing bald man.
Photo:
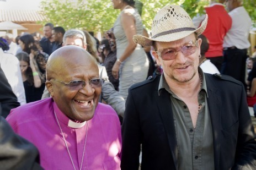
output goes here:
[[[52, 98], [12, 109], [7, 121], [17, 134], [38, 147], [42, 167], [74, 169], [54, 112], [66, 138], [74, 166], [80, 169], [87, 124], [81, 128], [68, 127], [70, 119], [58, 109]], [[87, 123], [82, 169], [120, 169], [121, 129], [114, 109], [98, 103], [94, 117]]]

